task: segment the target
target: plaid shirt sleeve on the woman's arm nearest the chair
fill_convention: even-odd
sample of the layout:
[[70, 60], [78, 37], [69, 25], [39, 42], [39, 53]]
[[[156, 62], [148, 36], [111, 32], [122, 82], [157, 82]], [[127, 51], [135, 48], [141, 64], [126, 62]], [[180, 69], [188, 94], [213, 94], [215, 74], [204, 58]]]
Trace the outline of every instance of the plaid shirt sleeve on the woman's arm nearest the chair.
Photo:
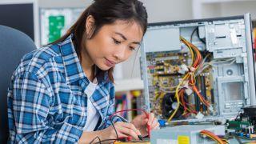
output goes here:
[[44, 79], [24, 72], [13, 78], [8, 94], [11, 143], [75, 143], [82, 135], [77, 126], [63, 122], [51, 126], [49, 110], [54, 95]]

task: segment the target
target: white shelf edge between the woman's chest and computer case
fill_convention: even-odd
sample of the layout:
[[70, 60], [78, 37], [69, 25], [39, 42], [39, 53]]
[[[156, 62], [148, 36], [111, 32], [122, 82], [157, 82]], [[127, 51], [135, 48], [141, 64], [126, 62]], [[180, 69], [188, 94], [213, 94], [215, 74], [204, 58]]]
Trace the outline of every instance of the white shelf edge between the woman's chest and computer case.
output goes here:
[[144, 89], [143, 81], [140, 78], [117, 80], [114, 86], [116, 92]]

